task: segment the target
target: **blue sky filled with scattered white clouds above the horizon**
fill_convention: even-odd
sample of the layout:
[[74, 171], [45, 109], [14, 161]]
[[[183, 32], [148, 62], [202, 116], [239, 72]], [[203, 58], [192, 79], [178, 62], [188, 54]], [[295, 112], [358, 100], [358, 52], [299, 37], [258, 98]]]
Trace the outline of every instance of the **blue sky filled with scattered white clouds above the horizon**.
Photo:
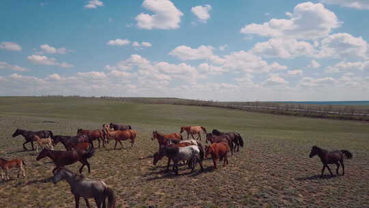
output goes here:
[[369, 100], [369, 1], [0, 3], [0, 96]]

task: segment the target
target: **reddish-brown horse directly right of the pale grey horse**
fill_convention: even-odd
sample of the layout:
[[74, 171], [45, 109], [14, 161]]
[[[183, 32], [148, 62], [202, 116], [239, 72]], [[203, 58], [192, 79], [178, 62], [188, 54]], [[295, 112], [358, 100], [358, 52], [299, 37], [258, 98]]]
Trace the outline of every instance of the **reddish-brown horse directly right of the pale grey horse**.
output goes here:
[[223, 167], [226, 166], [226, 163], [228, 164], [227, 153], [229, 151], [230, 146], [228, 146], [226, 142], [213, 143], [210, 144], [210, 146], [205, 146], [205, 157], [211, 155], [211, 157], [213, 157], [214, 169], [217, 169], [218, 158], [219, 161], [221, 161], [224, 158]]

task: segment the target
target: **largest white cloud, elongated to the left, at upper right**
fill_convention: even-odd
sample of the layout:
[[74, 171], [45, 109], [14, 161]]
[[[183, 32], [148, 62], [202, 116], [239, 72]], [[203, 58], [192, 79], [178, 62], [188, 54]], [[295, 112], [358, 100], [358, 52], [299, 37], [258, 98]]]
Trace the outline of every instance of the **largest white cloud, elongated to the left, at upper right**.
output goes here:
[[332, 29], [340, 27], [336, 14], [321, 3], [299, 3], [288, 19], [272, 18], [262, 25], [251, 23], [241, 29], [243, 34], [258, 34], [268, 37], [316, 39], [327, 36]]

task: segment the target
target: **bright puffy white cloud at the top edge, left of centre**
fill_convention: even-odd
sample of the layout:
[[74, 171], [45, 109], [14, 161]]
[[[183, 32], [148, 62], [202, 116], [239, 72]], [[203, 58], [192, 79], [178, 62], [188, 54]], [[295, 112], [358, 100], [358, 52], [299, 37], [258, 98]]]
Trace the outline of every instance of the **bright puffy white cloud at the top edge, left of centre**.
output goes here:
[[169, 0], [145, 0], [143, 8], [154, 14], [141, 13], [136, 16], [137, 27], [142, 29], [176, 29], [183, 15]]

